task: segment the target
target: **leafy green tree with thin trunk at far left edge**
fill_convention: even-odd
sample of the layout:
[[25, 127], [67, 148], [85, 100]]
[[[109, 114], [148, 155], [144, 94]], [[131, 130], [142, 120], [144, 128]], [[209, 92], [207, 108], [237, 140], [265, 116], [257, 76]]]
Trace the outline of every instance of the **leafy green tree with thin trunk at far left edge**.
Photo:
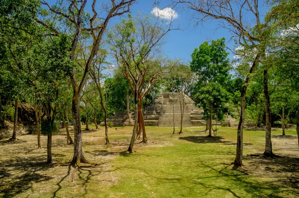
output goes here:
[[[23, 93], [22, 90], [25, 90], [24, 82], [27, 80], [26, 73], [24, 73], [23, 70], [23, 64], [25, 64], [28, 56], [28, 49], [31, 46], [30, 42], [28, 42], [28, 35], [30, 36], [36, 31], [32, 14], [37, 12], [37, 6], [38, 2], [36, 0], [28, 0], [25, 2], [22, 0], [0, 2], [1, 71], [7, 70], [7, 72], [1, 73], [1, 75], [4, 75], [1, 78], [4, 80], [8, 77], [7, 75], [9, 75], [10, 78], [13, 77], [13, 80], [15, 81], [14, 86], [10, 89], [8, 97], [14, 99], [13, 134], [10, 138], [12, 141], [16, 140], [18, 99]], [[9, 82], [7, 79], [5, 81], [6, 83]], [[7, 92], [8, 90], [3, 91]], [[1, 93], [1, 95], [3, 96], [2, 99], [4, 99], [4, 93]], [[2, 101], [2, 99], [0, 100]], [[2, 120], [2, 116], [0, 116], [0, 119]], [[1, 122], [3, 125], [4, 119]]]

